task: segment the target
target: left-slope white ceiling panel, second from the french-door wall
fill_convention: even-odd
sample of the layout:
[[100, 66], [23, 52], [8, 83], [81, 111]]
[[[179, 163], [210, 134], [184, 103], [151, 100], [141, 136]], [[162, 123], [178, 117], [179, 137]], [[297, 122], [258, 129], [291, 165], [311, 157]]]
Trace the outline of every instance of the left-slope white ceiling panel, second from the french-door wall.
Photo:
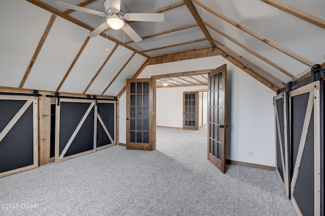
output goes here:
[[101, 95], [132, 54], [131, 50], [118, 46], [101, 73], [90, 85], [87, 93]]

